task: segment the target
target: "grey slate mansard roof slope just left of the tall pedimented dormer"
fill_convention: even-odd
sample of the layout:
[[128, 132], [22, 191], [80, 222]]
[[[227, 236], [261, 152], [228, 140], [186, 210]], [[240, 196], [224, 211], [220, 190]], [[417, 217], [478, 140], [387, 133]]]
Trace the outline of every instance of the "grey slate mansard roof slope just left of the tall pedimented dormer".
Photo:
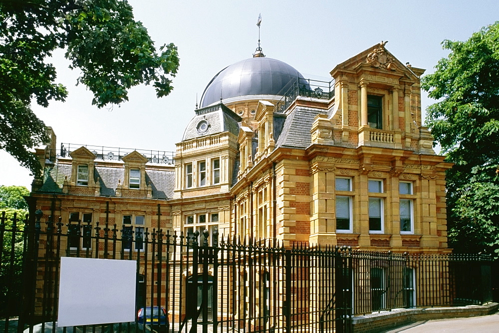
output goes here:
[[276, 146], [307, 148], [312, 143], [310, 129], [319, 109], [296, 107], [287, 115]]

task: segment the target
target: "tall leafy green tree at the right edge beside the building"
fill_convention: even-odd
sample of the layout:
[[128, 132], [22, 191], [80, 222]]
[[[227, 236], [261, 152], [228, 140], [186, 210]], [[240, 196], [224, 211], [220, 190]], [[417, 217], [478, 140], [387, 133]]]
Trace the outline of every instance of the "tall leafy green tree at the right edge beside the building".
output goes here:
[[450, 245], [499, 255], [499, 21], [467, 41], [443, 41], [451, 53], [422, 78], [426, 122], [455, 165], [447, 172]]

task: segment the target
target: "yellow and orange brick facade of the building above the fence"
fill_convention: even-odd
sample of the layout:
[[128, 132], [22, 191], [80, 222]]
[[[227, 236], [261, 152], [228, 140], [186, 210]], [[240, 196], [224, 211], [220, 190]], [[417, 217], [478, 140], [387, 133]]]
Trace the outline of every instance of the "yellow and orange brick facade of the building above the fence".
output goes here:
[[[70, 212], [88, 211], [94, 215], [92, 222], [119, 227], [123, 214], [135, 213], [145, 216], [149, 228], [185, 232], [186, 219], [206, 215], [203, 222], [194, 221], [196, 229], [202, 231], [213, 222], [225, 236], [276, 239], [285, 246], [305, 242], [446, 252], [445, 171], [451, 165], [435, 155], [433, 138], [421, 125], [423, 72], [403, 65], [380, 43], [331, 70], [334, 97], [329, 100], [296, 96], [284, 111], [276, 107], [282, 101], [278, 96], [223, 101], [219, 109], [196, 113], [204, 119], [213, 112], [224, 117], [232, 113], [239, 132], [203, 135], [198, 129], [198, 135], [177, 144], [174, 165], [151, 165], [136, 152], [120, 162], [100, 161], [81, 148], [71, 152], [71, 158], [58, 160], [59, 165], [71, 166], [69, 177], [59, 180], [60, 193], [44, 193], [36, 179], [32, 197], [45, 215], [61, 216], [63, 221]], [[381, 116], [374, 127], [369, 98], [380, 102]], [[309, 133], [302, 134], [310, 136], [310, 143], [300, 148], [279, 142], [273, 133], [276, 122], [281, 119], [285, 127], [287, 118], [300, 110], [313, 114], [307, 120]], [[94, 176], [78, 185], [82, 164]], [[121, 172], [114, 195], [101, 193], [103, 181], [94, 170], [99, 166]], [[129, 188], [134, 168], [140, 172], [140, 184]], [[174, 172], [172, 196], [154, 197], [155, 184], [146, 183], [149, 170]], [[337, 179], [347, 179], [351, 189], [338, 190]], [[370, 193], [370, 180], [381, 183], [382, 192]], [[400, 194], [401, 182], [410, 186], [409, 194]], [[337, 197], [350, 202], [347, 231], [337, 228]], [[378, 232], [369, 230], [373, 197], [382, 206]], [[401, 199], [410, 205], [409, 232], [400, 229]], [[208, 221], [214, 214], [218, 219]]]

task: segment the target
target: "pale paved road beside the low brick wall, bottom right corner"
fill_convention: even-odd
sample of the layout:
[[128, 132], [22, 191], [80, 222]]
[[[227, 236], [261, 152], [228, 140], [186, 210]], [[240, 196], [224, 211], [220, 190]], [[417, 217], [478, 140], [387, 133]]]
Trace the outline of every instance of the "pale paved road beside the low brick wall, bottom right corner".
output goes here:
[[454, 318], [454, 319], [438, 319], [426, 322], [417, 322], [406, 326], [399, 327], [394, 330], [385, 331], [386, 333], [416, 333], [416, 332], [431, 332], [431, 333], [498, 333], [499, 332], [499, 312], [494, 315], [471, 317], [471, 318]]

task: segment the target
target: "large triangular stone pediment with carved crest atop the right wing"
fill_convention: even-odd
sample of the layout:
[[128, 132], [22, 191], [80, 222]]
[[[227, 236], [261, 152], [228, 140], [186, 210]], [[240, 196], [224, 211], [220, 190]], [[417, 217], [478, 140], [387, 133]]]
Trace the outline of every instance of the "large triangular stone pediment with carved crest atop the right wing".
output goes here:
[[342, 72], [356, 74], [370, 68], [373, 71], [388, 72], [388, 74], [392, 73], [394, 76], [406, 77], [410, 81], [417, 81], [418, 76], [424, 70], [419, 68], [413, 70], [410, 65], [404, 65], [385, 48], [387, 42], [381, 41], [381, 43], [373, 45], [356, 56], [336, 65], [330, 72], [331, 76], [337, 77]]

